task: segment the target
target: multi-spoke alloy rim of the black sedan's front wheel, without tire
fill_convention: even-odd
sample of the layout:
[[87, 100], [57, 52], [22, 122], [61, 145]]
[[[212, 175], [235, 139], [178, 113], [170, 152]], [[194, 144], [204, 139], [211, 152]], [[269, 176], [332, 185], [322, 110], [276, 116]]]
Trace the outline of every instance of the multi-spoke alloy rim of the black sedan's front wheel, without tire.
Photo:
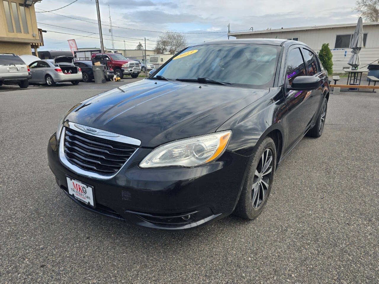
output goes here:
[[273, 152], [268, 148], [262, 153], [254, 173], [252, 186], [253, 209], [257, 210], [263, 204], [272, 174]]

